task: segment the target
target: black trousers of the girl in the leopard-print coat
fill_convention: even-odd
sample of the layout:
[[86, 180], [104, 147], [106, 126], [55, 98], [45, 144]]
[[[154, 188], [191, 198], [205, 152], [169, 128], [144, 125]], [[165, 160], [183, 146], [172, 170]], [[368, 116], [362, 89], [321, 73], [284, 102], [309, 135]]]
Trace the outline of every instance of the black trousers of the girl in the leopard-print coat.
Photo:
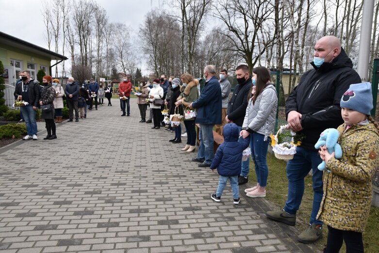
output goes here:
[[339, 253], [345, 241], [346, 253], [363, 253], [362, 233], [339, 230], [328, 226], [328, 242], [324, 253]]

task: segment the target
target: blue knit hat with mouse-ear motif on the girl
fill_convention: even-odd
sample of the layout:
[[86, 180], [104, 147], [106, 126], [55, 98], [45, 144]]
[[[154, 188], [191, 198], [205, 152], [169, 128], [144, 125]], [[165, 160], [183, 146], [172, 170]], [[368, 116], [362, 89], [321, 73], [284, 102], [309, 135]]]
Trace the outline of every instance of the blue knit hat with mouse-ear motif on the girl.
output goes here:
[[370, 111], [373, 108], [371, 83], [350, 84], [349, 89], [341, 98], [340, 105], [341, 107], [370, 115]]

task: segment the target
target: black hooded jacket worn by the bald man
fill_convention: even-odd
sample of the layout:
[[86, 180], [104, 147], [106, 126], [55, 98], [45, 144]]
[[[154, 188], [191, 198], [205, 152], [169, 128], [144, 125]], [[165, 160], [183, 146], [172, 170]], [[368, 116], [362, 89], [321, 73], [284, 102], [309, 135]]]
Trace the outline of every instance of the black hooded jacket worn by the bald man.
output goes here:
[[340, 101], [350, 84], [361, 83], [353, 63], [341, 49], [341, 53], [331, 62], [323, 63], [303, 74], [285, 104], [285, 113], [297, 111], [302, 115], [301, 126], [306, 137], [301, 147], [314, 150], [322, 131], [337, 128], [343, 123]]

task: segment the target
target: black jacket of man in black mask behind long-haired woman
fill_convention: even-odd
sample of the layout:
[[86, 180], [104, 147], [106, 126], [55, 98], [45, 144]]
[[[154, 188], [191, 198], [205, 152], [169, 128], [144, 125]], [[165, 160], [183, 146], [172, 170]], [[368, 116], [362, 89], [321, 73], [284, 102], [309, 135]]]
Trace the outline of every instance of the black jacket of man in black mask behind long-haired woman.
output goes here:
[[253, 82], [249, 77], [242, 85], [237, 84], [234, 88], [233, 96], [228, 102], [227, 115], [229, 120], [233, 121], [237, 126], [242, 127], [247, 108], [247, 97], [249, 95]]

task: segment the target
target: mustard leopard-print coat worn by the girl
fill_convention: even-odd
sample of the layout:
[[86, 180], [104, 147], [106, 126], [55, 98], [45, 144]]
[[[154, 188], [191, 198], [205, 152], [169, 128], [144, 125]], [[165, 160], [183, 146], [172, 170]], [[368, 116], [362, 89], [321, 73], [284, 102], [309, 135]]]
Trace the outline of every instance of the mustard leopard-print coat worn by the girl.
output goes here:
[[317, 219], [339, 230], [363, 233], [372, 201], [372, 177], [379, 166], [379, 133], [374, 124], [337, 128], [342, 158], [330, 158]]

